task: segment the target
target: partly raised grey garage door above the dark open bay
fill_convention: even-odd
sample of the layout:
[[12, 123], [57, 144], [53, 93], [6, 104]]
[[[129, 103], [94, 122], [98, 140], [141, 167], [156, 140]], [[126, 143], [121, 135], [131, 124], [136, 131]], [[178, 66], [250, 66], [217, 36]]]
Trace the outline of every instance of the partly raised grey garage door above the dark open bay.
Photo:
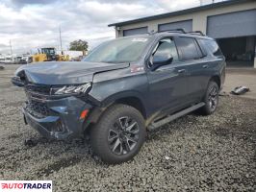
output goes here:
[[215, 38], [256, 35], [256, 10], [209, 16], [207, 35]]

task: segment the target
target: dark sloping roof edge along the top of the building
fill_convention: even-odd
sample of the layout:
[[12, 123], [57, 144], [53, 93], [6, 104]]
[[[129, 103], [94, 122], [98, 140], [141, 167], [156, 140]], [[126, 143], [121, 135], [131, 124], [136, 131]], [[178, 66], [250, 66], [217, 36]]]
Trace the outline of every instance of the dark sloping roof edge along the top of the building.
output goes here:
[[200, 12], [200, 11], [211, 10], [211, 9], [215, 9], [215, 8], [219, 8], [219, 7], [223, 7], [223, 6], [229, 6], [229, 5], [240, 4], [240, 3], [245, 3], [245, 2], [253, 2], [253, 1], [255, 1], [255, 0], [227, 0], [227, 1], [221, 1], [221, 2], [218, 2], [218, 3], [207, 4], [207, 5], [204, 5], [204, 6], [190, 8], [190, 9], [187, 9], [187, 10], [181, 10], [181, 11], [177, 11], [177, 12], [166, 12], [166, 13], [163, 13], [163, 14], [156, 14], [156, 15], [153, 15], [153, 16], [146, 16], [146, 17], [142, 17], [142, 18], [138, 18], [138, 19], [123, 21], [123, 22], [118, 22], [118, 23], [112, 23], [112, 24], [109, 24], [108, 26], [109, 27], [123, 26], [123, 25], [143, 22], [143, 21], [150, 21], [150, 20], [154, 20], [154, 19], [166, 18], [166, 17], [174, 16], [174, 15], [181, 15], [181, 14], [186, 14], [186, 13], [191, 13], [191, 12]]

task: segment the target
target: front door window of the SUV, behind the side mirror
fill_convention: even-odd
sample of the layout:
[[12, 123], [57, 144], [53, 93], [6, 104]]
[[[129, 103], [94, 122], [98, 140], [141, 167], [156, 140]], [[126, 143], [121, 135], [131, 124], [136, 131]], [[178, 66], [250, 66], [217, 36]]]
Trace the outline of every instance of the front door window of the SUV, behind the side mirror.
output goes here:
[[178, 61], [178, 53], [174, 41], [171, 38], [161, 39], [152, 53], [153, 62], [160, 60], [163, 55], [171, 55], [173, 61]]

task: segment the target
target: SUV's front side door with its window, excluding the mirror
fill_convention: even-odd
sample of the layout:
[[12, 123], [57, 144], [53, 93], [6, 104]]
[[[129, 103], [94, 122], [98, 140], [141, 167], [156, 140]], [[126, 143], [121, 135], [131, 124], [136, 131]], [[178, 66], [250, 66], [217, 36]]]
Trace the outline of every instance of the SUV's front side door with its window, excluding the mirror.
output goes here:
[[186, 106], [188, 95], [187, 67], [180, 62], [172, 37], [165, 37], [158, 42], [151, 53], [149, 63], [152, 64], [154, 58], [164, 52], [170, 54], [173, 60], [156, 70], [152, 70], [153, 66], [149, 66], [147, 73], [150, 107], [152, 111], [162, 111], [163, 114]]

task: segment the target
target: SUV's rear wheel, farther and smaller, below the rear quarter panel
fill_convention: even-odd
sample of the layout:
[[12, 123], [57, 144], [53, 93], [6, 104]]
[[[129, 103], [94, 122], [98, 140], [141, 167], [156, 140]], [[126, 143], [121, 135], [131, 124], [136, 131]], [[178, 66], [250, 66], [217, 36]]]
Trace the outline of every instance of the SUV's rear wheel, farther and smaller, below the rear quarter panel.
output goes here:
[[216, 82], [209, 82], [203, 102], [205, 106], [199, 109], [202, 115], [210, 115], [214, 113], [218, 107], [218, 84]]

